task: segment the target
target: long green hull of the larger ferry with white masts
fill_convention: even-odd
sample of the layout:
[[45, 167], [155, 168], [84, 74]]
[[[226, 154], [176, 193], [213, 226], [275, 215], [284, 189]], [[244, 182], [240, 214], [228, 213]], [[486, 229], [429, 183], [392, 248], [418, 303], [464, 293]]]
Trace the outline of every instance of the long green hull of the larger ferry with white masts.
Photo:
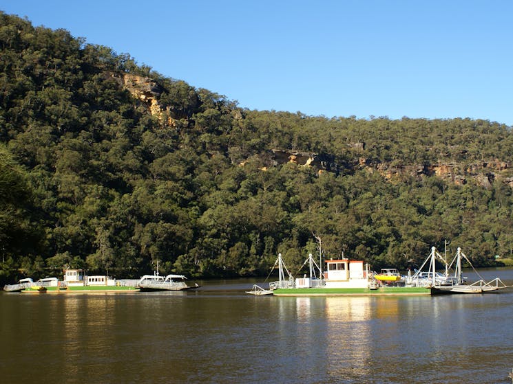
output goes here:
[[280, 288], [275, 296], [404, 296], [431, 295], [430, 288], [422, 286], [381, 286], [369, 288]]

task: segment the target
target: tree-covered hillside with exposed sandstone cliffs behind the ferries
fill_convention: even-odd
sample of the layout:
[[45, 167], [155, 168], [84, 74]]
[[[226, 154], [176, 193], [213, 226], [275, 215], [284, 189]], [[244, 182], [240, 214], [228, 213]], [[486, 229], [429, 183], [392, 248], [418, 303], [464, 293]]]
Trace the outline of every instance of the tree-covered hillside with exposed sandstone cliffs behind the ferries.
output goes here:
[[512, 255], [508, 126], [250, 111], [5, 13], [0, 49], [1, 282]]

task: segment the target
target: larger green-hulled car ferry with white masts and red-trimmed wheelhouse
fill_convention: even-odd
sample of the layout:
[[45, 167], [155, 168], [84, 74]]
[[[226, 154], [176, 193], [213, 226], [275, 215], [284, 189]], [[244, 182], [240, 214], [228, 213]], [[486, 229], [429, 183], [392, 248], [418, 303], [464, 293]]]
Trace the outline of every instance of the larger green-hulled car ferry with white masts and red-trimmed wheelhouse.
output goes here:
[[[492, 293], [501, 289], [511, 289], [499, 278], [485, 282], [479, 273], [474, 272], [481, 278], [478, 282], [468, 284], [461, 274], [461, 260], [465, 259], [474, 269], [469, 258], [458, 248], [457, 255], [451, 264], [446, 262], [435, 247], [423, 262], [422, 266], [415, 273], [408, 271], [407, 276], [400, 276], [398, 279], [389, 278], [392, 269], [384, 269], [381, 273], [373, 273], [369, 270], [368, 264], [363, 261], [349, 260], [326, 260], [326, 272], [320, 278], [315, 276], [317, 264], [309, 255], [307, 262], [310, 264], [310, 276], [306, 278], [293, 278], [283, 263], [281, 254], [278, 255], [279, 280], [269, 283], [269, 289], [275, 296], [327, 296], [327, 295], [437, 295], [441, 293]], [[437, 260], [446, 265], [445, 273], [436, 271]], [[306, 264], [306, 262], [304, 263]], [[303, 265], [304, 265], [303, 264]], [[427, 271], [423, 271], [428, 267]], [[454, 275], [449, 270], [454, 267]], [[273, 267], [274, 268], [274, 267]], [[320, 269], [319, 269], [320, 270]], [[285, 272], [288, 279], [285, 278]], [[381, 277], [381, 278], [380, 278]]]

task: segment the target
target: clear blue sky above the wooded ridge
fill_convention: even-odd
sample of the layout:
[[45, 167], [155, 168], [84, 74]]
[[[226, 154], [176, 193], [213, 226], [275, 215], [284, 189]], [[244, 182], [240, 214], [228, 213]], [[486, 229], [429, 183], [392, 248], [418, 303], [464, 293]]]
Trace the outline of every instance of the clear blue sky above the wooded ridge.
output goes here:
[[511, 0], [1, 0], [249, 109], [513, 125]]

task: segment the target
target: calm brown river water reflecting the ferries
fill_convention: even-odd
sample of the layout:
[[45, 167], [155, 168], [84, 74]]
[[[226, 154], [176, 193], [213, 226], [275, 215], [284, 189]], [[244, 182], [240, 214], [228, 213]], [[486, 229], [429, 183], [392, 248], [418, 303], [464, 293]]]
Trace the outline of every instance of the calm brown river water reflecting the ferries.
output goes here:
[[[513, 284], [512, 269], [480, 271]], [[474, 278], [472, 273], [467, 273]], [[511, 383], [513, 289], [436, 297], [0, 294], [1, 383]]]

